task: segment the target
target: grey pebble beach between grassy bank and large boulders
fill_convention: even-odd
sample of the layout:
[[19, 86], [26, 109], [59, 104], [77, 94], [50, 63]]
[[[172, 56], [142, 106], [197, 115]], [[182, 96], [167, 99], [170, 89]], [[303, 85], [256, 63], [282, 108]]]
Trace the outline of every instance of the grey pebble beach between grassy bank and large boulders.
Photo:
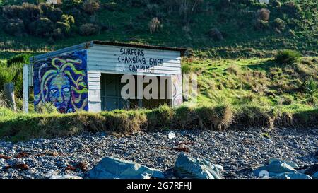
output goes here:
[[16, 144], [0, 141], [0, 156], [11, 157], [0, 158], [0, 178], [86, 177], [105, 156], [117, 156], [166, 170], [173, 167], [182, 150], [223, 165], [225, 178], [253, 178], [252, 170], [269, 158], [291, 160], [300, 167], [318, 162], [318, 128], [173, 131], [174, 139], [168, 139], [170, 131], [162, 131], [120, 138], [85, 133]]

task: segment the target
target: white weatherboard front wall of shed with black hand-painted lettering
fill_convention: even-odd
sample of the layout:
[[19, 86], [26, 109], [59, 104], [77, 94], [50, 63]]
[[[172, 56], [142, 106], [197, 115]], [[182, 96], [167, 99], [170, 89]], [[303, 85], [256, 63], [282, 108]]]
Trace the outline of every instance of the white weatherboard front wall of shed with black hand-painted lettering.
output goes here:
[[[93, 45], [87, 49], [88, 69], [88, 109], [91, 112], [101, 111], [100, 98], [100, 76], [106, 74], [140, 74], [130, 71], [129, 64], [118, 61], [121, 56], [120, 49], [133, 47], [119, 47], [112, 45]], [[136, 48], [143, 49], [143, 48]], [[153, 66], [151, 72], [141, 71], [148, 76], [172, 76], [181, 75], [181, 55], [178, 51], [167, 51], [158, 49], [143, 49], [146, 62], [150, 58], [163, 59], [163, 64]], [[182, 88], [180, 88], [182, 90]]]

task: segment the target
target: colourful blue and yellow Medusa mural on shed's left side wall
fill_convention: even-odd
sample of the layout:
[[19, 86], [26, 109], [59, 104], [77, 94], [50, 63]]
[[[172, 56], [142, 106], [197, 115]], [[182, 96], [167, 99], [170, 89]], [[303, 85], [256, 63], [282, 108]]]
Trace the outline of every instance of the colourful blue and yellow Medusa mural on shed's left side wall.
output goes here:
[[51, 102], [61, 113], [88, 110], [86, 50], [34, 64], [35, 107]]

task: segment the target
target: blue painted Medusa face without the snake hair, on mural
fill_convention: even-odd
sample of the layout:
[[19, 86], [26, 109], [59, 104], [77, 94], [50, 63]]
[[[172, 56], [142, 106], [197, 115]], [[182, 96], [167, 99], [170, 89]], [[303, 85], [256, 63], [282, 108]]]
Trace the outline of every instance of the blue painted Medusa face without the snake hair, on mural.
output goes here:
[[67, 112], [71, 101], [71, 83], [64, 73], [59, 73], [49, 83], [49, 100], [59, 112]]

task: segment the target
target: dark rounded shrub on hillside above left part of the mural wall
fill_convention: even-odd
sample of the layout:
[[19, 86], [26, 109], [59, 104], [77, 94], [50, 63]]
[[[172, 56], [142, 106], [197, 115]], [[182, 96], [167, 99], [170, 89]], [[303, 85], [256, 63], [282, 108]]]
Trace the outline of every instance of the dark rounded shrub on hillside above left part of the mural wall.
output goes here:
[[29, 30], [33, 35], [48, 37], [54, 29], [54, 23], [49, 18], [40, 18], [30, 23]]

